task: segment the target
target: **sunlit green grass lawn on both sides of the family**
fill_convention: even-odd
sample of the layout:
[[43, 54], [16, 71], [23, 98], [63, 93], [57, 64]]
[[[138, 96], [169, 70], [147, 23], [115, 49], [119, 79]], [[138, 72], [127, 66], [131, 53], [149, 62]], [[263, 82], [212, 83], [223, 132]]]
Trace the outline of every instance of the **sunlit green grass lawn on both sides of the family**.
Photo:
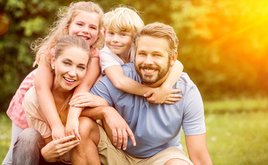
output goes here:
[[[268, 162], [268, 101], [263, 99], [205, 102], [210, 156], [215, 165]], [[11, 122], [0, 113], [0, 162], [8, 152]], [[186, 151], [184, 137], [181, 136]]]

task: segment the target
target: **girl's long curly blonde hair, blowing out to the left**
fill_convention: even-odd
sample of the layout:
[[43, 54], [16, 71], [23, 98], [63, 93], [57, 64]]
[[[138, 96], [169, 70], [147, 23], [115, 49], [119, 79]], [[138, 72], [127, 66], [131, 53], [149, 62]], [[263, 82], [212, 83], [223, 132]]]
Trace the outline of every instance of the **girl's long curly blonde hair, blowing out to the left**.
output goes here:
[[69, 34], [69, 25], [72, 21], [74, 21], [74, 17], [76, 17], [76, 15], [80, 11], [96, 12], [99, 15], [100, 23], [98, 39], [93, 45], [90, 46], [91, 48], [98, 48], [99, 50], [102, 48], [104, 43], [104, 36], [101, 33], [102, 16], [104, 14], [102, 8], [100, 8], [100, 5], [98, 5], [97, 3], [93, 3], [91, 1], [72, 2], [68, 7], [62, 7], [57, 12], [56, 21], [54, 21], [51, 28], [49, 29], [49, 34], [45, 36], [44, 39], [37, 39], [36, 41], [34, 41], [34, 43], [32, 43], [31, 48], [36, 53], [36, 58], [33, 67], [35, 65], [38, 65], [41, 58], [41, 54], [44, 51], [48, 51], [49, 54], [52, 54], [52, 52], [50, 52], [52, 50], [52, 47], [54, 47], [60, 39]]

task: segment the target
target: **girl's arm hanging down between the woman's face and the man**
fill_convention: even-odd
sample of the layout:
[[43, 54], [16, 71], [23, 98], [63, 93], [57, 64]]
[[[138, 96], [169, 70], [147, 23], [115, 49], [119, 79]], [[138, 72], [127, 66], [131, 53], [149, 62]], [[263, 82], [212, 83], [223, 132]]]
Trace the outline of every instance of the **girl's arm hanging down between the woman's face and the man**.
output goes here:
[[[87, 73], [85, 78], [82, 80], [82, 83], [76, 87], [74, 90], [74, 96], [78, 93], [89, 92], [91, 87], [94, 85], [98, 77], [100, 76], [100, 65], [99, 58], [92, 58], [91, 63], [87, 68]], [[74, 96], [71, 98], [73, 100]], [[76, 137], [80, 140], [80, 135], [78, 132], [78, 118], [83, 108], [80, 107], [69, 107], [69, 113], [67, 117], [67, 124], [65, 133], [66, 135], [76, 135]]]

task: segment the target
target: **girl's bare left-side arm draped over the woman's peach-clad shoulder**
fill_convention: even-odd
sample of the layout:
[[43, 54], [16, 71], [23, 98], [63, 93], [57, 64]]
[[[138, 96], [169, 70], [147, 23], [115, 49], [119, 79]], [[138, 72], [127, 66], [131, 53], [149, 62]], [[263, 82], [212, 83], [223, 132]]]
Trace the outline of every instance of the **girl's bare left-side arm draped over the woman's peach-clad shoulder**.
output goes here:
[[57, 140], [61, 137], [65, 137], [65, 127], [58, 116], [58, 111], [52, 95], [51, 89], [54, 75], [51, 72], [51, 67], [47, 63], [47, 58], [48, 54], [41, 54], [41, 60], [38, 64], [34, 79], [34, 86], [41, 110], [52, 129], [52, 138]]

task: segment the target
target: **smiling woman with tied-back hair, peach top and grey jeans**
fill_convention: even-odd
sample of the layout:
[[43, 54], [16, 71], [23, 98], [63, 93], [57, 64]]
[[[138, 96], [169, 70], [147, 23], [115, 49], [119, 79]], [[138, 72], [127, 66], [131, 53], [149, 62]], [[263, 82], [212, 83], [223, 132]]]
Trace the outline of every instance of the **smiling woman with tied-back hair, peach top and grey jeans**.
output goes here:
[[[82, 83], [87, 72], [87, 65], [90, 61], [89, 49], [89, 45], [83, 39], [72, 35], [66, 36], [58, 41], [58, 44], [55, 46], [55, 52], [52, 54], [51, 67], [54, 73], [54, 81], [51, 91], [55, 100], [58, 116], [64, 125], [67, 120], [68, 102], [74, 92], [74, 88]], [[76, 54], [76, 56], [74, 56], [74, 54]], [[101, 99], [105, 102], [103, 98]], [[52, 142], [52, 130], [47, 122], [48, 119], [41, 110], [35, 87], [29, 89], [25, 94], [23, 108], [25, 109], [27, 122], [30, 128], [36, 129], [45, 142], [44, 146], [40, 148], [41, 156], [43, 156], [47, 162], [70, 162], [68, 155], [65, 153], [78, 145], [79, 140], [67, 142], [69, 143], [67, 145], [58, 145], [66, 142], [61, 141], [62, 139]], [[17, 140], [14, 145], [13, 164], [28, 164], [27, 162], [32, 164], [37, 161], [34, 160], [34, 155], [38, 153], [32, 153], [30, 157], [25, 156], [34, 152], [33, 149], [37, 146], [32, 146], [31, 142], [35, 142], [35, 140], [36, 137], [29, 138], [29, 135], [21, 133], [19, 140]], [[54, 145], [49, 143], [53, 143]], [[60, 148], [56, 148], [56, 145]]]

